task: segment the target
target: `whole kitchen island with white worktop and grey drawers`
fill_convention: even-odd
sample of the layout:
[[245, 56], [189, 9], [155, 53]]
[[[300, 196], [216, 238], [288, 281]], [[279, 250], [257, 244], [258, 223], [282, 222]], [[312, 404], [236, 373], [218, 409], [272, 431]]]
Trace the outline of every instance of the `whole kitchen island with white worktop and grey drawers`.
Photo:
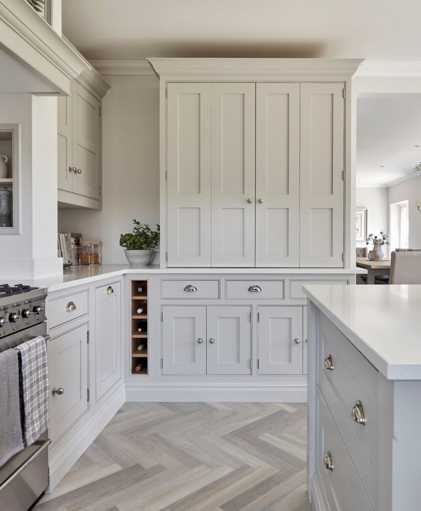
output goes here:
[[419, 509], [421, 286], [305, 286], [313, 509]]

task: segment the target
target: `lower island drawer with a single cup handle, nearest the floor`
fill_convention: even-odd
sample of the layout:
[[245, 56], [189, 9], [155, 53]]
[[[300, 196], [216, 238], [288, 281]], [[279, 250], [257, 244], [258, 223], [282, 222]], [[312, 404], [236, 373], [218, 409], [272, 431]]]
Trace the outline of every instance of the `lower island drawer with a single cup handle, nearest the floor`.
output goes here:
[[[317, 394], [317, 472], [330, 511], [374, 511], [348, 450], [320, 392]], [[325, 467], [330, 453], [333, 470]]]

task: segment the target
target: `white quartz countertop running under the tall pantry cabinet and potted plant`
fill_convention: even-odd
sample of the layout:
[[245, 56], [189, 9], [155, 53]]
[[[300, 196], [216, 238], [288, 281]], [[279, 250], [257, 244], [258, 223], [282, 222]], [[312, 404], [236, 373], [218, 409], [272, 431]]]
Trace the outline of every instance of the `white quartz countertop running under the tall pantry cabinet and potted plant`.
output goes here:
[[[103, 264], [100, 266], [71, 266], [63, 270], [63, 275], [31, 281], [29, 284], [45, 287], [48, 291], [59, 291], [72, 286], [89, 284], [104, 278], [112, 278], [126, 273], [130, 274], [239, 274], [239, 275], [266, 275], [266, 274], [324, 274], [324, 275], [350, 275], [358, 273], [358, 269], [344, 270], [342, 268], [160, 268], [159, 266], [130, 266], [123, 264]], [[27, 283], [27, 282], [25, 282]]]

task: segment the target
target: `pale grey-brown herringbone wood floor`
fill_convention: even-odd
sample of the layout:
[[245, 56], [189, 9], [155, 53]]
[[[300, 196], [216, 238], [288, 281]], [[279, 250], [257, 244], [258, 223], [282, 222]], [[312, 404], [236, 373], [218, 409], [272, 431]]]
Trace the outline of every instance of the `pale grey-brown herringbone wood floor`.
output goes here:
[[126, 403], [36, 511], [310, 511], [306, 406]]

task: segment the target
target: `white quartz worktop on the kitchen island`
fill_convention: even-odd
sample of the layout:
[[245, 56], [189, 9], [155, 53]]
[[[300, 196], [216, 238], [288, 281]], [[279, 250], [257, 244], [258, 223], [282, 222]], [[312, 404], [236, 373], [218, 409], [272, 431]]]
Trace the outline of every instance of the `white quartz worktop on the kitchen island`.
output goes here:
[[421, 285], [303, 287], [389, 380], [421, 380]]

